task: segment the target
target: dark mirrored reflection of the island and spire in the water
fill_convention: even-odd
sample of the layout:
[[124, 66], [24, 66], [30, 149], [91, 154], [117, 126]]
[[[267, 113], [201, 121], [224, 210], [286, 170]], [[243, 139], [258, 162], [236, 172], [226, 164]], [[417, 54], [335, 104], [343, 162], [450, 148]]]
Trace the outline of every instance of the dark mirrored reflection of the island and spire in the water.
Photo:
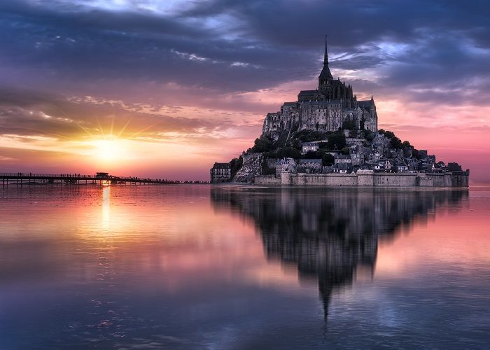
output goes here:
[[468, 190], [211, 188], [216, 209], [253, 218], [267, 258], [293, 262], [300, 278], [318, 279], [325, 321], [332, 290], [352, 283], [357, 267], [374, 270], [380, 236], [466, 197]]

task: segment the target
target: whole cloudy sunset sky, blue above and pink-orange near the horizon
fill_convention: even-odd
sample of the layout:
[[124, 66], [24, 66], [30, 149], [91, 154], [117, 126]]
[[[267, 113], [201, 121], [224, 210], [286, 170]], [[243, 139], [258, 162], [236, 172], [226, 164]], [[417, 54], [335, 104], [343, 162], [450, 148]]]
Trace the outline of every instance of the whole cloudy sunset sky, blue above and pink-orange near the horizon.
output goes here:
[[490, 182], [486, 0], [2, 0], [0, 172], [207, 180], [330, 69]]

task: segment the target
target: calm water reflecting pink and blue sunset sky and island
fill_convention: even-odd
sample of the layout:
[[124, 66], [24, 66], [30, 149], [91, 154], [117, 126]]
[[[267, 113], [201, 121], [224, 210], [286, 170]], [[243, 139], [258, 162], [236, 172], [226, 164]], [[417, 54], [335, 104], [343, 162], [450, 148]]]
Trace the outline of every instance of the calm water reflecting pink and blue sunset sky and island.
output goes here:
[[0, 188], [0, 349], [484, 349], [490, 188]]

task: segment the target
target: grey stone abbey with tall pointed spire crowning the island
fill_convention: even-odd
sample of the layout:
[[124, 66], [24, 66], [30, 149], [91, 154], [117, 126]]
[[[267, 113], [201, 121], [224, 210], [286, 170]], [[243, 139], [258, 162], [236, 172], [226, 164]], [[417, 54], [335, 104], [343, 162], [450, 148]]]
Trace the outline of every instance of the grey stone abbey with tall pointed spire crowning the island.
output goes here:
[[323, 69], [318, 76], [318, 89], [302, 90], [297, 101], [286, 102], [281, 111], [267, 113], [262, 134], [274, 140], [291, 130], [316, 130], [321, 132], [342, 129], [344, 121], [355, 123], [358, 130], [377, 132], [376, 105], [370, 100], [358, 101], [352, 86], [340, 78], [334, 79], [328, 67], [327, 38]]

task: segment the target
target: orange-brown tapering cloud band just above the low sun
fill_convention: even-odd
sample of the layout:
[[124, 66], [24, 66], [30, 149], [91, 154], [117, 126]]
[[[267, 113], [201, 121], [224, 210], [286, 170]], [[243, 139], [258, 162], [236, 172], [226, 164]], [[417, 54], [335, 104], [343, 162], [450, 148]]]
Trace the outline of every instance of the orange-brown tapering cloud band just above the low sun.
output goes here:
[[[171, 106], [165, 111], [176, 109], [179, 107]], [[120, 132], [127, 139], [143, 140], [158, 139], [160, 134], [172, 132], [206, 137], [234, 126], [229, 118], [216, 123], [205, 118], [167, 116], [162, 113], [162, 106], [158, 109], [141, 104], [0, 89], [0, 135], [15, 135], [27, 143], [26, 137], [33, 136], [69, 140]]]

